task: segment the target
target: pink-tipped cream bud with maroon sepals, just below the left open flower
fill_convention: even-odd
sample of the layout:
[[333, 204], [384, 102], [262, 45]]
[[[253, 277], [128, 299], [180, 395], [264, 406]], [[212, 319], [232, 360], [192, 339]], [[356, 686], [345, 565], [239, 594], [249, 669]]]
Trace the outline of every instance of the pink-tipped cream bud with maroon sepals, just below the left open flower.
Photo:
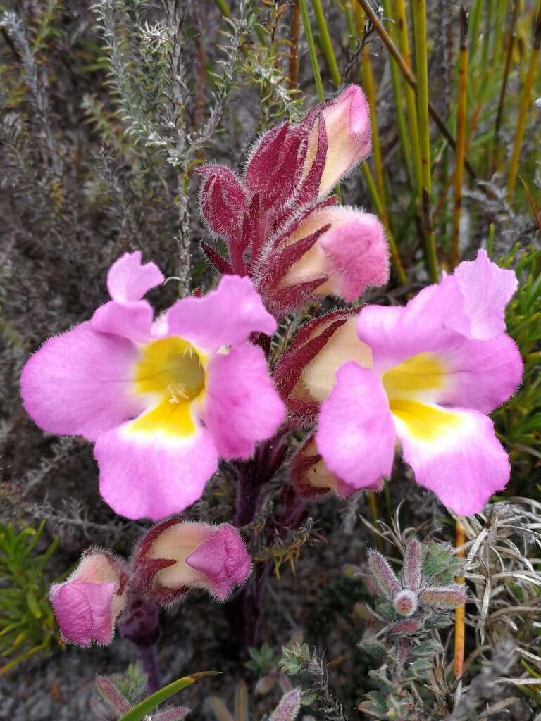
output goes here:
[[133, 578], [162, 605], [178, 601], [190, 588], [205, 588], [225, 601], [235, 586], [245, 583], [251, 567], [245, 543], [229, 523], [170, 518], [139, 544]]

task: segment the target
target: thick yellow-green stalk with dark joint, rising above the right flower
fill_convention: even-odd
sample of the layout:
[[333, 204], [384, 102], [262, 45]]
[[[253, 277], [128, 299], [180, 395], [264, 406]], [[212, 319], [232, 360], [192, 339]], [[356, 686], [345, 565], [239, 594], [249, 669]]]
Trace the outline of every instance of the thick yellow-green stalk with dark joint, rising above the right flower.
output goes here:
[[421, 145], [421, 176], [423, 183], [423, 230], [426, 243], [426, 265], [433, 283], [439, 280], [434, 229], [430, 219], [431, 168], [430, 125], [428, 124], [428, 59], [426, 48], [426, 0], [413, 0], [413, 34], [417, 65], [419, 143]]

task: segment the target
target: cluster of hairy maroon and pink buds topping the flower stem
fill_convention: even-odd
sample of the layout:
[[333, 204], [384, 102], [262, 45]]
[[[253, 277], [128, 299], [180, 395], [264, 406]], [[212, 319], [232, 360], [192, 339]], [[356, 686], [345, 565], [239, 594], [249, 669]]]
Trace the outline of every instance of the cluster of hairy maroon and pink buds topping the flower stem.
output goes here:
[[198, 169], [201, 215], [229, 250], [224, 258], [203, 243], [208, 260], [221, 273], [254, 278], [278, 318], [318, 296], [353, 301], [386, 283], [389, 253], [377, 218], [325, 200], [370, 149], [369, 106], [351, 85], [299, 125], [265, 133], [243, 178], [217, 165]]

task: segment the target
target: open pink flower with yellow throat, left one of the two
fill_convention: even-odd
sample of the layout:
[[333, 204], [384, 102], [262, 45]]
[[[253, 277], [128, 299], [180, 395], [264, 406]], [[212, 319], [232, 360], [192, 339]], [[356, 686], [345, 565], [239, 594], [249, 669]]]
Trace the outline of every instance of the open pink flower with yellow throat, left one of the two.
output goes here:
[[250, 279], [222, 278], [153, 321], [141, 298], [162, 280], [141, 252], [120, 257], [107, 276], [112, 300], [45, 342], [21, 377], [41, 428], [95, 442], [100, 492], [128, 518], [183, 510], [219, 456], [250, 458], [283, 417], [263, 351], [246, 342], [276, 329]]

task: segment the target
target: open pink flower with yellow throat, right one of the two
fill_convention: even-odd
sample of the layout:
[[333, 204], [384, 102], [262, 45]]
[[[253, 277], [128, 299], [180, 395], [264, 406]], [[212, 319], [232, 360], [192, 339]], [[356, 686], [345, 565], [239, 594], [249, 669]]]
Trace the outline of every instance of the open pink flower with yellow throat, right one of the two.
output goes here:
[[[351, 492], [390, 475], [396, 441], [417, 482], [456, 513], [477, 513], [505, 487], [509, 460], [485, 414], [522, 378], [519, 351], [503, 332], [515, 290], [514, 273], [480, 250], [405, 307], [361, 309], [356, 358], [331, 338], [325, 377], [336, 373], [336, 381], [315, 441]], [[304, 375], [325, 388], [314, 368]]]

